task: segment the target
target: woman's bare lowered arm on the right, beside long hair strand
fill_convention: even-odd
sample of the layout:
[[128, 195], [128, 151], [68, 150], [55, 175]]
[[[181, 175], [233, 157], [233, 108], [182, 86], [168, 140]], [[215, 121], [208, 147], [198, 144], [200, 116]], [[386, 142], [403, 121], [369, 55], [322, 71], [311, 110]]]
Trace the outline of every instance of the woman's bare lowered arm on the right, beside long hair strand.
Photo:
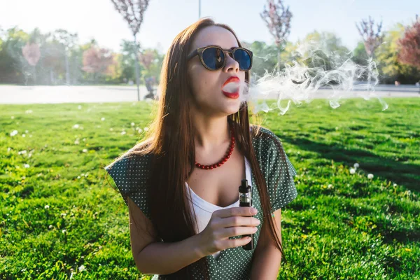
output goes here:
[[[281, 209], [274, 211], [274, 225], [276, 233], [281, 242]], [[251, 268], [251, 280], [254, 279], [277, 279], [281, 263], [281, 253], [269, 235], [269, 226], [262, 223], [260, 238], [257, 248], [253, 253]]]

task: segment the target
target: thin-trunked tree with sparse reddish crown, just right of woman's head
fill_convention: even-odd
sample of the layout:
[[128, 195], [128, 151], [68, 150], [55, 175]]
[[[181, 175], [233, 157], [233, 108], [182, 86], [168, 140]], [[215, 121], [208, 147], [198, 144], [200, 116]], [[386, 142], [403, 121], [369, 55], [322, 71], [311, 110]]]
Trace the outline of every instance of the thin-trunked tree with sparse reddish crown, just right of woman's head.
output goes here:
[[262, 20], [265, 21], [269, 33], [274, 36], [274, 41], [277, 46], [277, 69], [280, 71], [280, 52], [281, 47], [286, 43], [286, 38], [290, 34], [290, 20], [292, 13], [289, 7], [285, 8], [283, 0], [267, 0], [268, 9], [264, 6], [264, 10], [260, 13]]

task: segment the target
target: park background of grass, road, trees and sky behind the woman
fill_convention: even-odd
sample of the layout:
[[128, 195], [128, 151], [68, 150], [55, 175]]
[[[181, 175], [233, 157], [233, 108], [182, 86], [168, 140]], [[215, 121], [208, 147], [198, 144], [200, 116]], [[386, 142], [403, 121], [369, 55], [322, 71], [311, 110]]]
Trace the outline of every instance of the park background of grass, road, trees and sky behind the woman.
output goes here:
[[0, 0], [0, 279], [151, 278], [104, 167], [146, 137], [169, 45], [207, 16], [253, 51], [253, 81], [295, 62], [369, 70], [339, 106], [330, 80], [251, 116], [297, 170], [278, 279], [420, 279], [418, 14], [418, 0]]

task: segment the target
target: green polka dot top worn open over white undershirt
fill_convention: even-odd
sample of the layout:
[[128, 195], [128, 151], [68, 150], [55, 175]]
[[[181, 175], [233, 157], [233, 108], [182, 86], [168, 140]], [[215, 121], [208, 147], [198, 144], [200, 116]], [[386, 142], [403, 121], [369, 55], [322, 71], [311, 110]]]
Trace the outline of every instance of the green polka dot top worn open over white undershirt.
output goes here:
[[[296, 171], [290, 163], [286, 153], [284, 153], [283, 146], [279, 139], [273, 132], [261, 128], [258, 137], [253, 139], [253, 148], [262, 174], [267, 182], [269, 200], [272, 205], [271, 212], [273, 213], [277, 209], [285, 207], [297, 197], [297, 191], [293, 181]], [[150, 163], [150, 155], [142, 157], [137, 156], [134, 159], [122, 157], [105, 167], [106, 171], [116, 183], [125, 204], [128, 205], [127, 197], [130, 197], [149, 219], [151, 219], [151, 212], [146, 193], [146, 181], [148, 180], [148, 167], [150, 166]], [[135, 172], [135, 174], [129, 173], [128, 170], [133, 170], [133, 168], [134, 170], [139, 170], [139, 172]], [[276, 182], [279, 182], [277, 188], [275, 188]], [[263, 221], [260, 195], [258, 193], [258, 188], [255, 185], [254, 176], [251, 176], [251, 183], [253, 190], [253, 207], [258, 209], [258, 214], [254, 217]], [[141, 186], [144, 187], [141, 188]], [[258, 244], [261, 226], [262, 223], [258, 225], [258, 231], [254, 234], [254, 248], [256, 248]], [[239, 237], [230, 237], [230, 239], [237, 238]], [[254, 250], [244, 250], [239, 246], [237, 248], [228, 248], [221, 251], [218, 258], [214, 258], [213, 255], [207, 255], [206, 258], [209, 263], [210, 279], [249, 279], [253, 251]], [[191, 267], [193, 273], [195, 273], [193, 274], [194, 279], [204, 279], [204, 276], [198, 272], [198, 267], [195, 269], [195, 263], [191, 264]], [[156, 279], [165, 279], [165, 276], [153, 276], [153, 280]]]

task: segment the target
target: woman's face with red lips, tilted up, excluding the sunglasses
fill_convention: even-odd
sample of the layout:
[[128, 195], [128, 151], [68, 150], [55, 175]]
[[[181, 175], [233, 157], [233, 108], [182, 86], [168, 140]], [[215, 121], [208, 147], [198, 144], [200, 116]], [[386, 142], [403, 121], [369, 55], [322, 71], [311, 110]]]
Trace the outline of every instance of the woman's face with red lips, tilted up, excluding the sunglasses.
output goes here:
[[[219, 45], [223, 50], [239, 47], [237, 39], [223, 27], [211, 26], [200, 30], [188, 52], [207, 45]], [[242, 94], [240, 87], [245, 81], [245, 72], [239, 70], [239, 64], [225, 52], [225, 67], [210, 71], [200, 62], [196, 55], [188, 62], [188, 77], [193, 90], [193, 106], [197, 112], [207, 116], [228, 116], [239, 111], [240, 99], [235, 92]], [[231, 82], [226, 84], [229, 78]]]

